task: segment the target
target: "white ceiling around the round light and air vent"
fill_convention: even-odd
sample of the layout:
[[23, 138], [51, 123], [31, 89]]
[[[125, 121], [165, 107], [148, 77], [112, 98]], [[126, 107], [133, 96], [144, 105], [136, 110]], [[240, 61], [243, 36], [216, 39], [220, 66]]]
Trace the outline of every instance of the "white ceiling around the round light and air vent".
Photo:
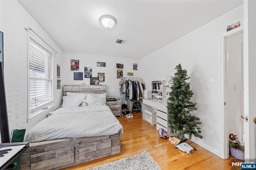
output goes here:
[[[18, 1], [64, 51], [137, 59], [243, 3], [243, 0]], [[100, 24], [100, 17], [105, 14], [116, 19], [112, 29]], [[126, 42], [117, 44], [116, 39]]]

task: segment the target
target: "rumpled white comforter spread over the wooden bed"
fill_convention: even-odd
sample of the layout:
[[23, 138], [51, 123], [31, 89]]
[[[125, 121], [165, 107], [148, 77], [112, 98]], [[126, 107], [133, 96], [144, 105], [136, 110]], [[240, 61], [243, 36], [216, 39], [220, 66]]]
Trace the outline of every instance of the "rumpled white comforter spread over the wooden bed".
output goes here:
[[106, 105], [62, 107], [36, 124], [26, 141], [39, 142], [57, 138], [77, 138], [116, 134], [123, 127]]

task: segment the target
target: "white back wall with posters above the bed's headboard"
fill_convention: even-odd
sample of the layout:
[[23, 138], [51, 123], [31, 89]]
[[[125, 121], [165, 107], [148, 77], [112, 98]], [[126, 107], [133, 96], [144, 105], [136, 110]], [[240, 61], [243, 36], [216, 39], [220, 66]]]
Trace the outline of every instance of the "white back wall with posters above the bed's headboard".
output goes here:
[[[138, 59], [128, 59], [121, 57], [111, 57], [106, 55], [95, 55], [86, 53], [75, 53], [75, 52], [63, 52], [63, 85], [90, 85], [89, 78], [83, 78], [83, 80], [74, 80], [74, 71], [70, 71], [70, 60], [79, 60], [79, 71], [84, 73], [84, 67], [92, 67], [92, 77], [98, 77], [98, 73], [105, 73], [105, 83], [108, 96], [119, 96], [119, 81], [116, 78], [116, 63], [124, 64], [124, 77], [140, 77], [139, 75], [139, 60]], [[98, 62], [106, 62], [106, 67], [97, 67]], [[133, 63], [138, 64], [138, 70], [133, 70]], [[134, 73], [134, 76], [127, 76], [127, 72]], [[84, 74], [83, 74], [84, 75]]]

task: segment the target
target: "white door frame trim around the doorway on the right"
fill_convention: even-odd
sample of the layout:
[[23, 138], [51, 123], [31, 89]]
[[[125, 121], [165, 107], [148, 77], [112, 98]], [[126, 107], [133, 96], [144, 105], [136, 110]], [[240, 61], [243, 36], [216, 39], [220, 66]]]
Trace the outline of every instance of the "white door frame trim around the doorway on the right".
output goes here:
[[226, 107], [224, 106], [224, 102], [226, 101], [226, 79], [225, 79], [225, 37], [232, 36], [235, 34], [239, 34], [243, 32], [243, 28], [236, 28], [235, 30], [232, 30], [230, 32], [227, 32], [224, 35], [220, 36], [220, 114], [219, 114], [219, 120], [220, 120], [220, 135], [219, 135], [219, 157], [222, 159], [228, 158], [229, 148], [228, 148], [228, 122], [227, 122], [227, 113], [226, 113]]

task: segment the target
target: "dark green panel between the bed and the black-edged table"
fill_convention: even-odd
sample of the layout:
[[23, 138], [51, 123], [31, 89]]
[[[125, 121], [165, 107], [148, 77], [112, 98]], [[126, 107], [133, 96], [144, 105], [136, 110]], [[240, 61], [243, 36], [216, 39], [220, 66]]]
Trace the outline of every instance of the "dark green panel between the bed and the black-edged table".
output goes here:
[[[15, 129], [12, 130], [12, 138], [11, 142], [24, 142], [24, 136], [25, 136], [26, 129]], [[18, 170], [19, 164], [20, 164], [20, 156], [18, 156], [12, 163], [17, 163], [17, 166], [13, 168], [13, 170]]]

